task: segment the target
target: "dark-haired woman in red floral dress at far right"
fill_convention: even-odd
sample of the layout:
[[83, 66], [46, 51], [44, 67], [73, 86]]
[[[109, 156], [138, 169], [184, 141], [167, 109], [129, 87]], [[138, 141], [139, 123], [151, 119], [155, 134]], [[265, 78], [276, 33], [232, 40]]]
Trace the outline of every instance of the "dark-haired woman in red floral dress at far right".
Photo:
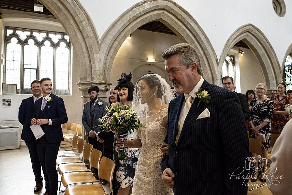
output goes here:
[[274, 116], [272, 119], [271, 133], [280, 134], [289, 120], [289, 113], [284, 106], [291, 104], [291, 97], [285, 95], [285, 83], [279, 83], [277, 87], [279, 95], [274, 97]]

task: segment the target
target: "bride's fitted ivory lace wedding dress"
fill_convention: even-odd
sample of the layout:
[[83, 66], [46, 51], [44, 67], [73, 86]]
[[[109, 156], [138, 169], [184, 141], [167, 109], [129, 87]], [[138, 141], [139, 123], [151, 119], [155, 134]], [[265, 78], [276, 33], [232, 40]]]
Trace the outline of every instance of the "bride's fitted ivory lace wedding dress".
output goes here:
[[[164, 144], [166, 128], [162, 126], [164, 117], [167, 116], [168, 107], [152, 116], [144, 116], [143, 125], [137, 131], [142, 147], [136, 166], [133, 184], [133, 195], [168, 195], [173, 194], [162, 181], [160, 162], [162, 153], [159, 149]], [[146, 122], [145, 122], [146, 121]]]

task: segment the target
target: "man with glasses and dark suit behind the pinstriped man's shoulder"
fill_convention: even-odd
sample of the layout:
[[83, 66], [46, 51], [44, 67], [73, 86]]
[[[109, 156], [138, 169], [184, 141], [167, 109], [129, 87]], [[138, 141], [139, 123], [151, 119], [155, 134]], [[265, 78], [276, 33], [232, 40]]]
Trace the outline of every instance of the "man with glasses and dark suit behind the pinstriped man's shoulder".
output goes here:
[[244, 120], [248, 120], [249, 117], [251, 116], [251, 113], [248, 107], [246, 96], [242, 93], [237, 93], [234, 91], [235, 88], [234, 88], [233, 81], [234, 80], [231, 76], [224, 76], [221, 79], [223, 88], [233, 91], [237, 95], [240, 105], [241, 105], [242, 112], [244, 114]]

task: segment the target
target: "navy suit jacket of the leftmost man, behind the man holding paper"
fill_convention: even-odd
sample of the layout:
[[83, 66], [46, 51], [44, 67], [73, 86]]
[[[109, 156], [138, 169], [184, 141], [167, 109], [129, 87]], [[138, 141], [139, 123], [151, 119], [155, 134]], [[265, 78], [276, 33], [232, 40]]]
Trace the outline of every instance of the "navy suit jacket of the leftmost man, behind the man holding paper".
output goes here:
[[27, 142], [32, 138], [30, 121], [34, 118], [34, 115], [35, 110], [33, 96], [22, 100], [20, 107], [18, 108], [18, 121], [23, 125], [21, 139]]

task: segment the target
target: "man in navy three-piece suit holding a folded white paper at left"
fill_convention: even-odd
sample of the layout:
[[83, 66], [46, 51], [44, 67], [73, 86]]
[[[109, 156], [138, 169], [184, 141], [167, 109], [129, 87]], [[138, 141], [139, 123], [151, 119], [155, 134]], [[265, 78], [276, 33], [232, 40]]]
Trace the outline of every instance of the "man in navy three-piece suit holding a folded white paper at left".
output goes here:
[[40, 125], [45, 133], [36, 140], [36, 148], [46, 181], [44, 194], [56, 195], [58, 191], [56, 159], [60, 142], [64, 140], [61, 125], [67, 123], [68, 117], [63, 99], [52, 93], [51, 79], [41, 79], [41, 88], [43, 96], [35, 102], [35, 118], [31, 120], [31, 124]]

